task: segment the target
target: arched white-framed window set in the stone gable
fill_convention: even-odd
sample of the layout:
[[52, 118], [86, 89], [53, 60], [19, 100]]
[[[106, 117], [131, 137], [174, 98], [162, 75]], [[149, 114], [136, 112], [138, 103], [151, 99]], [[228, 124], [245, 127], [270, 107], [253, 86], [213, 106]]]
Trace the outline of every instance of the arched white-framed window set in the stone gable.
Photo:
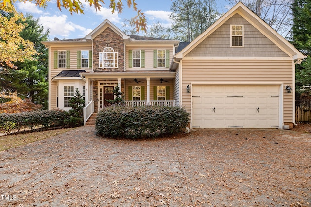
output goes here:
[[99, 53], [99, 67], [118, 68], [118, 52], [111, 47], [104, 48], [103, 52]]

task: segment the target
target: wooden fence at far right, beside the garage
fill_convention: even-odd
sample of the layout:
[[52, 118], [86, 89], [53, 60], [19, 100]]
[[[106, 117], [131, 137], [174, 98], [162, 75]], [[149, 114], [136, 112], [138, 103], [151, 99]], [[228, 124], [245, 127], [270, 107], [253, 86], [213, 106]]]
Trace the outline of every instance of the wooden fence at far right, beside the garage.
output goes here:
[[296, 123], [311, 124], [311, 96], [302, 96], [296, 101]]

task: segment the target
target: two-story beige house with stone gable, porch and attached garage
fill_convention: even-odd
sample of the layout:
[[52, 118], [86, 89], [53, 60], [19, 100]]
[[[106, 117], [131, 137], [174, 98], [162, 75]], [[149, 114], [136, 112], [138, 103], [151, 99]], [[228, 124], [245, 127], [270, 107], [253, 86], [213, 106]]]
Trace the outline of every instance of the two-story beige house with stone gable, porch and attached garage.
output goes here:
[[295, 64], [305, 57], [242, 3], [190, 44], [126, 35], [108, 20], [85, 38], [43, 44], [49, 109], [69, 109], [78, 88], [99, 111], [119, 85], [128, 105], [184, 107], [191, 128], [295, 123]]

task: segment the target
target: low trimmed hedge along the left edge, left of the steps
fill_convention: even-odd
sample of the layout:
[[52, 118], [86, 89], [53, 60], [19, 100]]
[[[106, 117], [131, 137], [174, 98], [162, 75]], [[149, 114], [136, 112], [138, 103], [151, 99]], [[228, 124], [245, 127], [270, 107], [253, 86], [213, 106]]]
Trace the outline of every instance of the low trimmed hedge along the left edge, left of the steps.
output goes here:
[[61, 110], [3, 113], [0, 114], [0, 131], [9, 134], [15, 129], [19, 131], [22, 128], [30, 128], [33, 131], [35, 127], [47, 129], [64, 126], [66, 117], [66, 112]]

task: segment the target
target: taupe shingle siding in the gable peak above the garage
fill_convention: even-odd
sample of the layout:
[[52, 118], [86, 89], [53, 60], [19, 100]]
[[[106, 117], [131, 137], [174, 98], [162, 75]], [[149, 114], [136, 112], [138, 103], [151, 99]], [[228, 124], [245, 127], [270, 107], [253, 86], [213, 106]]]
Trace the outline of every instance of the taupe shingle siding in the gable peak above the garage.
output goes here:
[[[230, 25], [244, 25], [244, 46], [230, 47]], [[288, 57], [253, 25], [235, 14], [186, 56]]]

